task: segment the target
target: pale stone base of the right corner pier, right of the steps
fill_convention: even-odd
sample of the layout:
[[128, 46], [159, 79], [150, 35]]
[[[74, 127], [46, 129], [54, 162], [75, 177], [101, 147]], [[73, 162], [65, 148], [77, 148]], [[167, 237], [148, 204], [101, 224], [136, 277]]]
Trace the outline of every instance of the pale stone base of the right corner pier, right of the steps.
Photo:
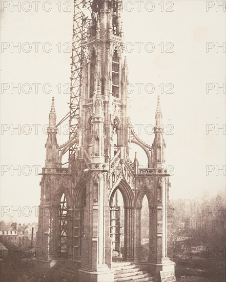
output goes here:
[[150, 263], [151, 274], [156, 277], [157, 281], [161, 281], [160, 271], [174, 271], [175, 263], [168, 257], [162, 258], [161, 263]]

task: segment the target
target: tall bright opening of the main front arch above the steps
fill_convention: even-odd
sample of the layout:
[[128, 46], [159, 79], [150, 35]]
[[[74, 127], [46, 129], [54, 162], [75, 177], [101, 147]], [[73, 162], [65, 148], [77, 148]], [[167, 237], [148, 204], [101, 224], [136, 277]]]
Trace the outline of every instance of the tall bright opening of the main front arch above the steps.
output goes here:
[[121, 192], [117, 189], [114, 193], [110, 206], [110, 236], [112, 239], [112, 259], [122, 257], [124, 249], [124, 200]]

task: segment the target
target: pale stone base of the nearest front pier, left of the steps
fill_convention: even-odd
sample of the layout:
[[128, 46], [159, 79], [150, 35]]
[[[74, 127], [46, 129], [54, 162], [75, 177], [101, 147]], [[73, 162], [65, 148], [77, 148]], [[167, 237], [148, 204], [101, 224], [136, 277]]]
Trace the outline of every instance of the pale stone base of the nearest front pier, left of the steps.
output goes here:
[[86, 269], [80, 269], [78, 271], [78, 281], [84, 282], [113, 282], [114, 272], [109, 268], [104, 268], [98, 271], [91, 271]]

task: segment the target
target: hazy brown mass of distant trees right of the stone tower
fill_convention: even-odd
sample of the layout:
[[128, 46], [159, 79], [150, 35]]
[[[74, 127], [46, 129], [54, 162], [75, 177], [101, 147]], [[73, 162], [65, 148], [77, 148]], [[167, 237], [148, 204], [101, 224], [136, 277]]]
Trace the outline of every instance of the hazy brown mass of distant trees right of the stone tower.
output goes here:
[[174, 199], [168, 212], [169, 245], [179, 237], [191, 237], [192, 246], [222, 249], [225, 246], [225, 193], [201, 199]]

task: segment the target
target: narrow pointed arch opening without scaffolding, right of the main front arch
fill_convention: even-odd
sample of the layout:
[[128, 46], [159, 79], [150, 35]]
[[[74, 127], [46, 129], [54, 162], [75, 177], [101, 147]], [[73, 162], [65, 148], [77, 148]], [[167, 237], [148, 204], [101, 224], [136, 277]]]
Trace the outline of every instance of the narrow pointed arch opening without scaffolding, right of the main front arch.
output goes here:
[[150, 217], [149, 217], [149, 204], [146, 194], [143, 196], [142, 208], [140, 212], [140, 224], [141, 224], [141, 234], [140, 234], [140, 249], [141, 249], [141, 259], [148, 261], [149, 257], [149, 237], [150, 237]]

